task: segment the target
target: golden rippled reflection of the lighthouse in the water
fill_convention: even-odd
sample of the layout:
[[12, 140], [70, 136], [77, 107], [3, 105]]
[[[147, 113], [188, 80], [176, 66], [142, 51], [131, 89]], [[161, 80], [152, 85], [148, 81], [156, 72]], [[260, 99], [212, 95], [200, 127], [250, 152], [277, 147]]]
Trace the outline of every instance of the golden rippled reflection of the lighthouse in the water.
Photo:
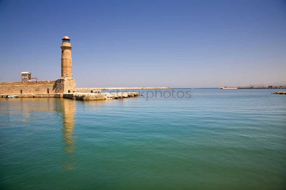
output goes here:
[[75, 169], [77, 161], [74, 158], [73, 151], [76, 147], [76, 134], [73, 133], [74, 130], [74, 114], [76, 112], [75, 101], [63, 98], [61, 100], [63, 118], [63, 151], [65, 153], [64, 161], [62, 163], [64, 170]]

